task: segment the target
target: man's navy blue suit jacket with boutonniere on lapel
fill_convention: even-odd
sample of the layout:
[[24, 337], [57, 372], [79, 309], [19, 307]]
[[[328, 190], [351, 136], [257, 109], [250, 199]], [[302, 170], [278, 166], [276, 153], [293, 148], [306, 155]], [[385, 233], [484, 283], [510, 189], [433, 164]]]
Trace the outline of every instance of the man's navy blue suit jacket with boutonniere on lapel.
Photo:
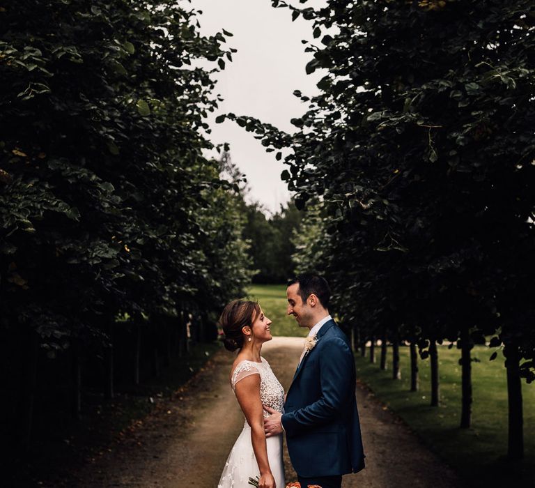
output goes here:
[[298, 475], [334, 476], [364, 468], [355, 399], [355, 360], [334, 320], [324, 323], [288, 390], [282, 425]]

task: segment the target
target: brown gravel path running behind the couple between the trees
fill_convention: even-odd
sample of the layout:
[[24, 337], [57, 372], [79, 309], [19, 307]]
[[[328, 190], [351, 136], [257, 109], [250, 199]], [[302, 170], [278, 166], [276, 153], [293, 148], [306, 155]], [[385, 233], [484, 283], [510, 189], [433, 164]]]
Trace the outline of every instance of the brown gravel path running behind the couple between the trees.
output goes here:
[[[276, 337], [265, 344], [285, 390], [293, 377], [303, 340]], [[176, 399], [165, 402], [111, 452], [88, 462], [76, 488], [195, 486], [215, 488], [243, 417], [228, 384], [233, 355], [219, 351]], [[366, 469], [344, 477], [343, 488], [452, 488], [461, 483], [403, 422], [385, 410], [366, 388], [357, 388]], [[288, 480], [295, 480], [288, 455]], [[54, 485], [58, 487], [59, 485]], [[279, 487], [280, 488], [280, 487]]]

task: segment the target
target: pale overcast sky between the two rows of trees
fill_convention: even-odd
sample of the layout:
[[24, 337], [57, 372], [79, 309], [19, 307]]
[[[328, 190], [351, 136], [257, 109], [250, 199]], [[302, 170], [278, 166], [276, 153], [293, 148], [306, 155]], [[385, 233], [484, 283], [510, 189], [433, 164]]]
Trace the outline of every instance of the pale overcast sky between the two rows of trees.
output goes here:
[[[323, 3], [311, 0], [306, 6]], [[275, 160], [274, 153], [266, 153], [250, 132], [231, 121], [215, 124], [213, 119], [233, 112], [293, 132], [290, 119], [307, 108], [293, 91], [313, 95], [321, 77], [318, 73], [307, 75], [304, 70], [312, 53], [304, 52], [301, 40], [311, 40], [311, 22], [301, 17], [292, 22], [290, 10], [273, 8], [270, 0], [192, 0], [192, 6], [203, 10], [199, 16], [201, 34], [230, 31], [234, 36], [227, 39], [228, 47], [238, 49], [233, 62], [227, 62], [217, 77], [216, 91], [225, 101], [208, 121], [210, 138], [215, 144], [231, 145], [233, 162], [247, 175], [250, 199], [261, 201], [268, 211], [277, 211], [290, 197], [280, 178], [286, 166]]]

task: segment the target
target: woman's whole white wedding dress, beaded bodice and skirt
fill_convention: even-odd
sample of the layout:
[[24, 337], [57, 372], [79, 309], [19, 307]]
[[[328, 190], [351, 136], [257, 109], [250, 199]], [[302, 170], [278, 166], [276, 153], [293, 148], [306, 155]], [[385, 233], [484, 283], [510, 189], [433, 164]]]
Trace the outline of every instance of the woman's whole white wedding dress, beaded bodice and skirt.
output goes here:
[[[273, 374], [269, 363], [261, 358], [261, 363], [255, 361], [241, 361], [232, 374], [231, 385], [235, 392], [238, 381], [251, 374], [260, 374], [260, 397], [264, 405], [283, 413], [284, 388]], [[264, 411], [264, 416], [270, 414]], [[284, 463], [282, 461], [282, 434], [267, 437], [267, 458], [270, 462], [271, 472], [277, 483], [277, 488], [284, 488]], [[249, 478], [259, 478], [260, 470], [254, 457], [251, 442], [251, 427], [245, 422], [243, 430], [234, 443], [231, 453], [226, 460], [221, 479], [217, 488], [251, 488]]]

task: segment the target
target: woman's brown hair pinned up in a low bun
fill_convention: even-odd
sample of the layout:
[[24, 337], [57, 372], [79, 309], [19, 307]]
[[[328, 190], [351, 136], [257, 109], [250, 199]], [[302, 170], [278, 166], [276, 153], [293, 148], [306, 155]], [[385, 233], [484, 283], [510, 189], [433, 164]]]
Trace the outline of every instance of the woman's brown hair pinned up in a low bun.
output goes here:
[[228, 351], [243, 347], [242, 328], [251, 327], [260, 314], [260, 305], [249, 300], [233, 300], [224, 307], [219, 325], [222, 326], [225, 338], [223, 344]]

